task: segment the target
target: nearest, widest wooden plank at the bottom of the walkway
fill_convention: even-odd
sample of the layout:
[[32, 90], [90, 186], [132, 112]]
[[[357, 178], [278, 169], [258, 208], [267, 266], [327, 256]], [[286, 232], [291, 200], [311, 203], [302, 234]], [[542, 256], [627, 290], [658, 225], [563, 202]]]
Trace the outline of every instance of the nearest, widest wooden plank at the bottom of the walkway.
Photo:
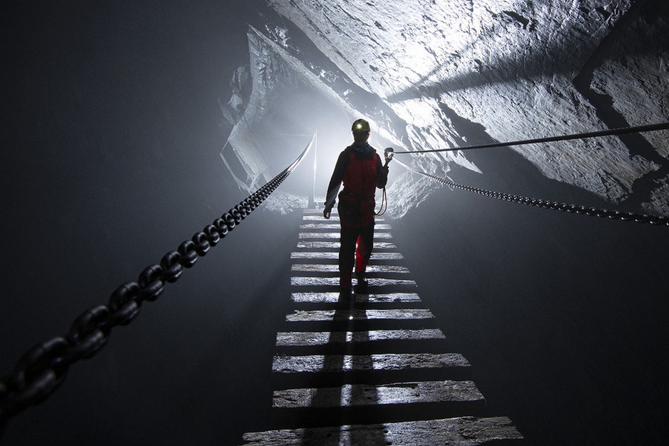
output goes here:
[[249, 432], [242, 439], [242, 446], [477, 446], [522, 444], [523, 436], [508, 417], [456, 417]]

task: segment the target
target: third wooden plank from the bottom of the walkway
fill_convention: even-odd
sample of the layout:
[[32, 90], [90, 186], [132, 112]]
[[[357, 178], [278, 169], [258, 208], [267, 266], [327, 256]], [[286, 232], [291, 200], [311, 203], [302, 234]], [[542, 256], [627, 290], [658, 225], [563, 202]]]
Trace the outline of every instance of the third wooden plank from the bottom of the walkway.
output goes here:
[[277, 355], [272, 371], [278, 373], [349, 372], [352, 370], [470, 368], [459, 353], [384, 353], [379, 355]]

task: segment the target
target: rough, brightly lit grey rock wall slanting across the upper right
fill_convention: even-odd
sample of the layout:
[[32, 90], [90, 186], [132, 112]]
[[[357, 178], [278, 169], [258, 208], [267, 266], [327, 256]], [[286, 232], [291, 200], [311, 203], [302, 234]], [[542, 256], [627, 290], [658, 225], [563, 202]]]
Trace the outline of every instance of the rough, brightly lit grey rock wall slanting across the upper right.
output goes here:
[[[322, 54], [400, 119], [372, 121], [406, 148], [466, 146], [464, 118], [496, 141], [668, 120], [667, 6], [659, 1], [269, 0]], [[302, 53], [309, 61], [310, 55]], [[548, 178], [667, 215], [668, 131], [516, 146]], [[413, 158], [478, 171], [466, 154]], [[488, 172], [489, 173], [489, 172]], [[486, 172], [483, 172], [485, 175]], [[402, 215], [435, 186], [408, 173]], [[508, 191], [522, 193], [522, 191]]]

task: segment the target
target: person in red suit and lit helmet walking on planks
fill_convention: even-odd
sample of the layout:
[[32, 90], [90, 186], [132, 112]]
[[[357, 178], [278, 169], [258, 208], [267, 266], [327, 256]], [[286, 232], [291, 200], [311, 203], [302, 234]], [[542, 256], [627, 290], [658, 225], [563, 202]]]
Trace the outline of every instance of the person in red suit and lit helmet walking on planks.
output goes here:
[[388, 167], [369, 146], [369, 123], [359, 119], [352, 126], [354, 142], [342, 151], [334, 166], [334, 173], [327, 186], [323, 216], [330, 218], [330, 212], [337, 198], [339, 187], [339, 288], [350, 293], [352, 271], [355, 266], [357, 291], [364, 292], [367, 280], [364, 277], [367, 262], [372, 255], [374, 243], [374, 193], [376, 188], [384, 188], [388, 181]]

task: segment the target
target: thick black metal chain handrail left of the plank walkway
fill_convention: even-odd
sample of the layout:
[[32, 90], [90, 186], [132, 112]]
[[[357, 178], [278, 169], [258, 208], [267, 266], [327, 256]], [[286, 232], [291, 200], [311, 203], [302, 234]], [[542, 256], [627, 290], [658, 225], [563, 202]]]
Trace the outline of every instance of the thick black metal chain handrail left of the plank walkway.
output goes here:
[[260, 206], [295, 170], [313, 141], [314, 138], [295, 162], [265, 186], [195, 233], [190, 240], [185, 240], [177, 250], [165, 254], [160, 265], [148, 266], [136, 282], [118, 287], [109, 298], [108, 305], [86, 310], [74, 320], [66, 335], [46, 340], [21, 356], [14, 371], [0, 379], [0, 435], [11, 417], [51, 396], [65, 379], [70, 365], [98, 353], [107, 343], [112, 328], [135, 320], [143, 302], [158, 299], [165, 283], [176, 282], [184, 268], [195, 265], [198, 257], [208, 253], [212, 246]]

